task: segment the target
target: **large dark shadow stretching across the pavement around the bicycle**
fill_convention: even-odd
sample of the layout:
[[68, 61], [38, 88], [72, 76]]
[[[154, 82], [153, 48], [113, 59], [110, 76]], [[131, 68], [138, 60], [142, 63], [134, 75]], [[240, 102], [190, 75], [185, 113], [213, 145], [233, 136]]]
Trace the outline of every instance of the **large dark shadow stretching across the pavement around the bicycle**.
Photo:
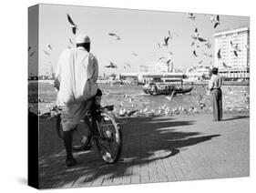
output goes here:
[[[212, 137], [220, 135], [202, 136], [199, 132], [180, 132], [177, 127], [190, 126], [194, 121], [175, 121], [171, 118], [137, 117], [119, 119], [123, 132], [123, 150], [120, 160], [113, 165], [106, 164], [96, 148], [92, 151], [80, 152], [77, 157], [78, 165], [74, 168], [66, 168], [64, 164], [65, 149], [62, 141], [56, 140], [56, 145], [47, 143], [48, 150], [40, 151], [43, 155], [39, 157], [41, 168], [42, 188], [71, 187], [74, 182], [76, 186], [95, 183], [94, 180], [105, 176], [104, 180], [132, 175], [130, 168], [143, 166], [150, 162], [172, 157], [179, 154], [180, 148], [189, 147]], [[42, 129], [42, 127], [41, 127]], [[51, 129], [50, 132], [53, 132]], [[41, 134], [44, 142], [44, 134]], [[56, 134], [46, 133], [45, 137], [56, 137]], [[51, 141], [55, 139], [45, 139]], [[49, 169], [52, 168], [52, 169]], [[51, 178], [49, 178], [51, 177]], [[78, 181], [76, 181], [78, 179]], [[101, 179], [102, 180], [102, 179]], [[50, 185], [47, 185], [48, 184]], [[102, 181], [98, 182], [101, 185]], [[52, 186], [53, 185], [53, 186]]]

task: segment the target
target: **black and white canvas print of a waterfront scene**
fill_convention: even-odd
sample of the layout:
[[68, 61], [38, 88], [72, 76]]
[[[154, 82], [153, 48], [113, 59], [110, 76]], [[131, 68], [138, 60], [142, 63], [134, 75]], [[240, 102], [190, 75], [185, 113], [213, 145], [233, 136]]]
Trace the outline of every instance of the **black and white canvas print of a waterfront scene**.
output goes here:
[[250, 176], [249, 16], [33, 5], [27, 56], [36, 188]]

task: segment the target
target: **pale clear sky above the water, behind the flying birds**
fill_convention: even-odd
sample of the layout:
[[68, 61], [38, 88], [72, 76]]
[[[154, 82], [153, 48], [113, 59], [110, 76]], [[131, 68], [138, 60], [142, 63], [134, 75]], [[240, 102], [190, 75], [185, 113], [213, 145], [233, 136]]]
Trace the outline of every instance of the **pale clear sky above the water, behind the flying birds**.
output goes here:
[[[61, 51], [70, 46], [69, 37], [75, 42], [76, 36], [72, 34], [67, 21], [67, 14], [77, 25], [77, 35], [87, 34], [91, 39], [91, 53], [97, 56], [99, 74], [118, 72], [138, 72], [140, 65], [152, 65], [159, 61], [160, 56], [173, 53], [174, 68], [182, 66], [210, 66], [213, 57], [202, 53], [213, 54], [213, 34], [216, 31], [249, 26], [247, 16], [220, 15], [220, 25], [216, 29], [210, 22], [211, 15], [195, 14], [195, 20], [189, 19], [187, 13], [171, 13], [159, 11], [139, 11], [129, 9], [112, 9], [100, 7], [71, 6], [71, 5], [40, 5], [39, 8], [39, 74], [50, 72], [56, 63]], [[211, 48], [201, 46], [197, 49], [198, 57], [193, 56], [194, 47], [191, 35], [198, 28], [200, 36], [209, 39]], [[173, 35], [169, 46], [159, 48], [164, 36]], [[116, 33], [120, 41], [115, 40], [108, 33]], [[32, 44], [32, 43], [31, 43]], [[52, 46], [52, 51], [47, 45]], [[35, 45], [30, 45], [36, 47]], [[47, 56], [43, 50], [50, 53]], [[138, 56], [132, 55], [137, 53]], [[112, 61], [118, 69], [108, 69], [104, 66]], [[31, 71], [36, 71], [36, 57], [31, 56], [29, 63]], [[131, 68], [125, 63], [130, 64]], [[34, 73], [34, 72], [33, 72]]]

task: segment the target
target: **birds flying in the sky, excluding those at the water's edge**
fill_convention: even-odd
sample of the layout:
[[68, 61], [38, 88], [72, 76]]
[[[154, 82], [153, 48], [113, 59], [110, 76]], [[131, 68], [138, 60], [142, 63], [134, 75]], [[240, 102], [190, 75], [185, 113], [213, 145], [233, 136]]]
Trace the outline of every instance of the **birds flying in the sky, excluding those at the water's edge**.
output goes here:
[[[188, 14], [188, 18], [192, 21], [195, 21], [196, 17], [197, 16], [193, 13]], [[67, 14], [67, 22], [71, 29], [72, 34], [74, 36], [76, 36], [77, 31], [78, 31], [78, 25], [73, 21], [73, 19], [71, 18], [71, 16], [69, 14]], [[217, 28], [218, 25], [220, 25], [220, 15], [211, 15], [210, 23], [213, 25], [214, 29]], [[113, 33], [113, 32], [109, 32], [108, 36], [112, 37], [116, 41], [121, 40], [121, 37], [118, 36], [118, 34]], [[170, 30], [168, 30], [168, 36], [163, 36], [162, 42], [158, 43], [159, 48], [168, 47], [170, 44], [170, 41], [173, 40], [175, 38], [175, 36], [179, 36], [179, 35], [176, 32], [171, 32]], [[206, 46], [206, 48], [208, 48], [208, 49], [211, 48], [210, 38], [204, 38], [204, 37], [200, 36], [200, 30], [198, 29], [198, 27], [196, 27], [194, 29], [194, 34], [191, 35], [191, 38], [192, 38], [191, 46], [193, 47], [193, 50], [192, 50], [193, 56], [199, 57], [199, 49], [202, 46]], [[68, 37], [68, 42], [70, 43], [70, 45], [67, 46], [68, 48], [75, 46], [71, 37]], [[233, 52], [234, 56], [238, 57], [239, 53], [241, 52], [241, 48], [239, 47], [239, 44], [234, 44], [232, 41], [230, 41], [230, 46], [232, 47], [232, 52]], [[51, 51], [52, 51], [52, 46], [49, 44], [47, 46], [47, 50], [44, 49], [43, 51], [46, 54], [46, 56], [50, 56]], [[29, 53], [28, 56], [31, 57], [31, 56], [35, 55], [36, 51], [31, 51], [31, 46], [29, 46], [28, 53]], [[138, 56], [137, 53], [131, 53], [131, 55]], [[205, 51], [205, 50], [203, 50], [203, 55], [208, 56], [208, 57], [213, 57], [211, 54], [209, 54], [208, 51]], [[172, 60], [172, 56], [173, 56], [173, 52], [168, 50], [168, 52], [165, 53], [165, 56], [159, 56], [159, 61], [164, 62], [164, 64], [166, 64], [169, 67], [171, 64], [174, 63], [174, 61]], [[217, 58], [221, 59], [221, 49], [220, 48], [217, 53]], [[49, 61], [48, 63], [51, 63], [51, 62]], [[198, 62], [198, 64], [201, 64], [201, 63], [203, 63], [203, 60], [200, 60]], [[230, 66], [227, 66], [224, 61], [222, 62], [222, 65], [227, 68], [230, 67]], [[105, 67], [106, 68], [114, 68], [114, 69], [118, 68], [118, 66], [116, 64], [114, 64], [113, 61], [109, 61], [109, 65], [107, 65]], [[131, 68], [131, 65], [128, 64], [127, 62], [124, 62], [123, 68], [124, 69]]]

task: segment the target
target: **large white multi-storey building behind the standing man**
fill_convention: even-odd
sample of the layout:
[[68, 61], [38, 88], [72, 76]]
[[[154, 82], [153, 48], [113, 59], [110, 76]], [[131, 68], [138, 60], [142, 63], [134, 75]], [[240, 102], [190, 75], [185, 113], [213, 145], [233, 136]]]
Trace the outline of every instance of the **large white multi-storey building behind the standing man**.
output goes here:
[[[220, 75], [230, 79], [249, 79], [249, 27], [217, 32], [214, 34], [214, 41], [214, 66], [219, 68]], [[218, 52], [220, 52], [219, 56]]]

